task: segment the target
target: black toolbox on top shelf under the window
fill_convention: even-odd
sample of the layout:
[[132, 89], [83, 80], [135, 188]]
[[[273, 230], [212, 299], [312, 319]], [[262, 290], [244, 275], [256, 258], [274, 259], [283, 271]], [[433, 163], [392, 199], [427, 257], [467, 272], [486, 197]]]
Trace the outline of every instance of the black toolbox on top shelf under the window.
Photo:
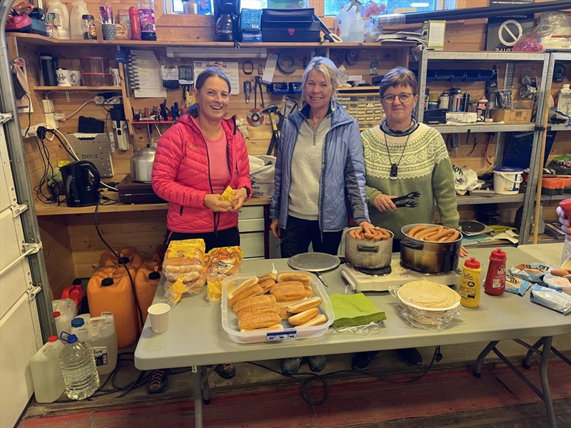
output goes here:
[[262, 9], [262, 41], [318, 42], [320, 23], [315, 9]]

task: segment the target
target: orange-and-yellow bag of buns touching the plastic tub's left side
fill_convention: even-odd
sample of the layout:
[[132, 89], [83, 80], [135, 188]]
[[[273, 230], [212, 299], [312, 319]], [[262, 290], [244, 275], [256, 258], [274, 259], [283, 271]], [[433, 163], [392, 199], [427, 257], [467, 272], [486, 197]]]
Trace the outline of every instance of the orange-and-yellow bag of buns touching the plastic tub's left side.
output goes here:
[[222, 300], [222, 281], [229, 275], [240, 273], [243, 251], [238, 246], [213, 248], [208, 251], [206, 265], [206, 300]]

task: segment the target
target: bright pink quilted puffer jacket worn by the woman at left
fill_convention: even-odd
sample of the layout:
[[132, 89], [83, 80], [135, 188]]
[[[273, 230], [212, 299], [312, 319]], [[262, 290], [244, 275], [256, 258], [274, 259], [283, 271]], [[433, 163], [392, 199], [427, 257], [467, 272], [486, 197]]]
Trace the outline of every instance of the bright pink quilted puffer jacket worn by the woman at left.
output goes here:
[[[222, 129], [228, 140], [227, 185], [247, 188], [251, 195], [246, 143], [235, 118], [223, 119]], [[214, 213], [203, 205], [204, 196], [213, 193], [208, 151], [201, 129], [188, 114], [158, 139], [151, 183], [155, 193], [168, 200], [166, 227], [171, 232], [206, 233], [238, 225], [238, 213]]]

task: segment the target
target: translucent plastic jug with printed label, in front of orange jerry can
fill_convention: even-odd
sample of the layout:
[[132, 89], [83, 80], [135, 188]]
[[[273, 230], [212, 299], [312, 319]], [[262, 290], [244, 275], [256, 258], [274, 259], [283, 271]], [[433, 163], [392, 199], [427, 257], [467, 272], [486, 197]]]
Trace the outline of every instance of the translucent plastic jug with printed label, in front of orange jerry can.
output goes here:
[[105, 313], [101, 317], [93, 317], [87, 323], [89, 340], [94, 350], [97, 372], [109, 374], [117, 366], [117, 332], [113, 314]]

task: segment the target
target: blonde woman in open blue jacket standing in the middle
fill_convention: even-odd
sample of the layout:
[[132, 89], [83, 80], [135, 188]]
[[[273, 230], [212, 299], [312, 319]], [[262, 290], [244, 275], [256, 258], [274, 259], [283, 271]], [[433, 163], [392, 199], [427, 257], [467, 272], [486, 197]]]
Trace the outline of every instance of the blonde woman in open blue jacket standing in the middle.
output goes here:
[[[281, 129], [270, 229], [282, 258], [307, 253], [310, 243], [314, 252], [336, 255], [350, 213], [357, 225], [370, 225], [359, 126], [333, 101], [338, 86], [335, 64], [313, 58], [301, 80], [305, 104]], [[300, 364], [284, 360], [282, 372], [293, 374]], [[309, 365], [318, 372], [325, 357], [309, 357]]]

